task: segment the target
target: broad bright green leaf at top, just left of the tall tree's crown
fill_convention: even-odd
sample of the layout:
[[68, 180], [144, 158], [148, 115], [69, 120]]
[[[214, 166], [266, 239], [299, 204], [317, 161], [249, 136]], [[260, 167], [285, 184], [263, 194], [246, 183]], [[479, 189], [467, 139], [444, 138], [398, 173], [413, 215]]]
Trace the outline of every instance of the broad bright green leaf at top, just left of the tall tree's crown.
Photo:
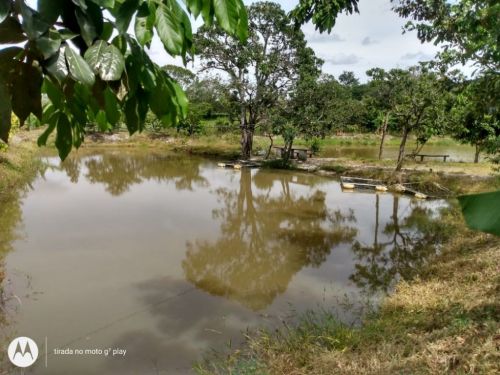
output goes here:
[[192, 46], [191, 23], [176, 1], [161, 3], [156, 9], [156, 31], [163, 46], [173, 56], [184, 56]]

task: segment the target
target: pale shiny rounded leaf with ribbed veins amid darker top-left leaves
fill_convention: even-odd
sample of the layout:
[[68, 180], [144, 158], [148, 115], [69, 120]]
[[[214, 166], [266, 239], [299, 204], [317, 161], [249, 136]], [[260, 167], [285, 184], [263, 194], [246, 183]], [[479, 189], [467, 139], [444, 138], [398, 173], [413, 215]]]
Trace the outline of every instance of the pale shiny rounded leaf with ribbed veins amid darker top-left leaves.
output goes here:
[[98, 40], [85, 52], [85, 60], [103, 81], [119, 80], [125, 69], [125, 59], [120, 50], [103, 40]]

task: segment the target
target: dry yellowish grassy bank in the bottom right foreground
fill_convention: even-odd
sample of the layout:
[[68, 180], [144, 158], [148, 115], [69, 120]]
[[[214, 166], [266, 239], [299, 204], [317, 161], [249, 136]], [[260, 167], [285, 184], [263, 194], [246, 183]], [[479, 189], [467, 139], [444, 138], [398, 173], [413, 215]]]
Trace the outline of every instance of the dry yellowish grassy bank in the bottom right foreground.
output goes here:
[[360, 327], [327, 312], [256, 332], [200, 374], [494, 374], [500, 371], [500, 238], [467, 230], [456, 208], [442, 252], [399, 282]]

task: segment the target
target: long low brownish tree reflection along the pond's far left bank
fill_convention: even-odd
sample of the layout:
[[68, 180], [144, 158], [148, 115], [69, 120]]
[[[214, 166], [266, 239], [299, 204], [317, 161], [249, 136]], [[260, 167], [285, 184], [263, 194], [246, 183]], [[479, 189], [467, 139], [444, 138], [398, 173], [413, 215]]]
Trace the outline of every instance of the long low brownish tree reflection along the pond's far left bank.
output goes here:
[[186, 157], [154, 153], [103, 153], [90, 158], [69, 157], [60, 167], [71, 182], [76, 183], [82, 164], [86, 169], [85, 178], [93, 184], [104, 184], [106, 191], [114, 196], [145, 180], [172, 180], [179, 190], [208, 185], [208, 181], [201, 176], [200, 162]]

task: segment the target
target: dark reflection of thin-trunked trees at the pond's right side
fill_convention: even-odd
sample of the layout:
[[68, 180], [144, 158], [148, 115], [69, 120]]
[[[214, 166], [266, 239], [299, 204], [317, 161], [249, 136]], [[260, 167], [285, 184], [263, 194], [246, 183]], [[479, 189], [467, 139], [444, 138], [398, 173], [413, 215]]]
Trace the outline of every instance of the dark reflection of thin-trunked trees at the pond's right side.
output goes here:
[[446, 235], [444, 224], [430, 208], [414, 206], [401, 218], [398, 196], [393, 196], [392, 215], [381, 232], [379, 206], [377, 194], [373, 244], [353, 244], [356, 264], [350, 279], [369, 294], [388, 292], [398, 278], [412, 277], [436, 253]]

